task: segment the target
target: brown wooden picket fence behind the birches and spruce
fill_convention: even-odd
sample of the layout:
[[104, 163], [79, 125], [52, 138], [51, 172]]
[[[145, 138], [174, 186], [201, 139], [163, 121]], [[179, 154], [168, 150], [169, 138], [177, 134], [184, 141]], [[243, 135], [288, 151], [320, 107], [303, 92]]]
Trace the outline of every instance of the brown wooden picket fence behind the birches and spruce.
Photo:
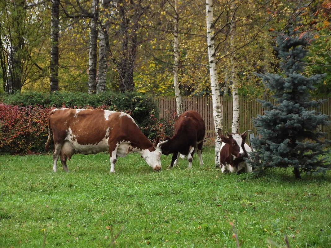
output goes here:
[[[273, 99], [266, 99], [273, 102]], [[184, 110], [194, 110], [201, 114], [206, 124], [206, 137], [211, 143], [214, 144], [215, 131], [213, 121], [213, 105], [210, 96], [198, 97], [189, 96], [182, 97]], [[173, 96], [159, 97], [157, 104], [160, 109], [160, 117], [168, 119], [176, 113], [176, 99]], [[222, 117], [223, 117], [223, 132], [231, 133], [232, 127], [232, 98], [221, 97]], [[251, 133], [255, 133], [256, 129], [252, 123], [252, 118], [255, 118], [258, 114], [262, 115], [265, 110], [262, 108], [261, 103], [256, 99], [248, 97], [239, 98], [240, 105], [240, 120], [239, 120], [239, 132], [245, 130], [252, 130]], [[317, 109], [323, 114], [331, 116], [331, 102], [326, 101], [321, 107]], [[320, 130], [326, 133], [326, 138], [331, 140], [331, 128], [330, 126], [322, 126]]]

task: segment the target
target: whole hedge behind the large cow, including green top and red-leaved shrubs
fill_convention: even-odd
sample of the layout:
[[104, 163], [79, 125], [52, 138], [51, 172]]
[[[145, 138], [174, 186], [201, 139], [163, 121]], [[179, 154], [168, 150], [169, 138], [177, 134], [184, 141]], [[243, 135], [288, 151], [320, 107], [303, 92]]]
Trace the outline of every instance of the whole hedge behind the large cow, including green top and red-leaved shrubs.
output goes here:
[[153, 99], [135, 92], [85, 93], [24, 92], [3, 95], [0, 103], [1, 152], [25, 154], [43, 152], [48, 137], [48, 113], [61, 107], [102, 108], [130, 114], [144, 135], [153, 141], [161, 140], [173, 131], [174, 118], [159, 119], [159, 111]]

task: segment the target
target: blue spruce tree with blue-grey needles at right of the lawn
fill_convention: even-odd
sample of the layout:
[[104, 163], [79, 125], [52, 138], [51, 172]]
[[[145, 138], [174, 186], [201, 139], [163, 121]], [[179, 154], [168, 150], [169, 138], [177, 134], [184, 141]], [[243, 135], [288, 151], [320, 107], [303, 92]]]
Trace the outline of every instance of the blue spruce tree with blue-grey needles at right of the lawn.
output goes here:
[[305, 48], [310, 42], [308, 32], [298, 33], [290, 28], [279, 35], [276, 42], [282, 73], [259, 74], [266, 88], [274, 93], [276, 105], [258, 100], [267, 110], [264, 115], [253, 118], [261, 138], [252, 140], [257, 152], [252, 154], [249, 163], [257, 171], [292, 166], [295, 178], [301, 179], [302, 172], [323, 172], [331, 168], [325, 157], [327, 141], [323, 139], [324, 133], [318, 131], [320, 125], [329, 125], [328, 116], [313, 110], [324, 100], [310, 100], [310, 92], [315, 89], [313, 84], [324, 75], [301, 74], [307, 54]]

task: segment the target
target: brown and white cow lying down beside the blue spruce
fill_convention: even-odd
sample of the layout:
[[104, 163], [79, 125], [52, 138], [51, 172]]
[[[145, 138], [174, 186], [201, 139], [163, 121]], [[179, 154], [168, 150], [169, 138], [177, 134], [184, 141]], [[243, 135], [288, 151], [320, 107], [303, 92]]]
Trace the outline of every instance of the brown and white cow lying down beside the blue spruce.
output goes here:
[[253, 149], [245, 143], [247, 132], [242, 134], [221, 135], [222, 145], [219, 151], [219, 165], [222, 173], [252, 172], [252, 166], [247, 164], [244, 158], [248, 158], [248, 152]]

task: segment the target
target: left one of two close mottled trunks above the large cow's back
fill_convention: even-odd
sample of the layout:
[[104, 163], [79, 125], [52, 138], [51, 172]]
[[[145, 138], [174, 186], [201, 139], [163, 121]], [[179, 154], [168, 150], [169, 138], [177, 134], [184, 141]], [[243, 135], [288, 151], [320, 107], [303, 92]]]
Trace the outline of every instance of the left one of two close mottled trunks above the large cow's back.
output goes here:
[[92, 0], [93, 18], [91, 19], [90, 24], [88, 94], [95, 94], [97, 87], [98, 4], [99, 0]]

